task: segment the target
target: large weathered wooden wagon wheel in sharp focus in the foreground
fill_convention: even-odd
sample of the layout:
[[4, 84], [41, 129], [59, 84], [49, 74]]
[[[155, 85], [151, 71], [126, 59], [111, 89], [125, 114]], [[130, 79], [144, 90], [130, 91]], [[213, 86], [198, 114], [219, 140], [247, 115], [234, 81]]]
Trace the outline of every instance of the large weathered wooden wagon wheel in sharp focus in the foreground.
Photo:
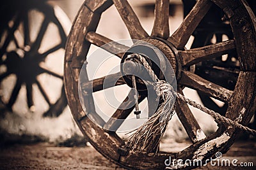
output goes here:
[[[168, 0], [156, 1], [155, 21], [151, 36], [141, 27], [138, 17], [136, 17], [127, 1], [84, 1], [72, 26], [65, 53], [65, 90], [74, 119], [84, 136], [89, 139], [95, 149], [109, 160], [131, 169], [164, 169], [166, 168], [164, 161], [170, 157], [182, 160], [205, 160], [218, 151], [222, 153], [227, 152], [230, 145], [234, 143], [238, 130], [233, 127], [224, 128], [220, 126], [214, 134], [205, 137], [188, 105], [179, 99], [177, 100], [176, 112], [192, 142], [191, 146], [179, 153], [160, 151], [156, 154], [129, 152], [128, 155], [125, 155], [120, 152], [122, 150], [120, 148], [124, 145], [125, 141], [115, 132], [104, 131], [99, 124], [97, 125], [92, 121], [91, 118], [95, 120], [99, 118], [95, 117], [97, 113], [95, 113], [92, 92], [90, 91], [86, 92], [87, 97], [86, 101], [84, 101], [86, 111], [83, 110], [78, 94], [79, 73], [83, 63], [86, 62], [86, 55], [90, 44], [101, 46], [111, 41], [111, 39], [97, 34], [95, 31], [99, 24], [100, 15], [112, 4], [115, 4], [132, 39], [143, 39], [143, 41], [147, 42], [157, 41], [154, 45], [161, 49], [165, 55], [170, 55], [170, 51], [171, 53], [173, 51], [177, 52], [172, 53], [173, 57], [175, 57], [175, 62], [170, 60], [170, 63], [173, 67], [177, 66], [175, 71], [177, 73], [179, 92], [182, 92], [182, 87], [189, 87], [200, 90], [221, 101], [227, 101], [228, 109], [225, 117], [232, 120], [240, 120], [241, 124], [244, 125], [248, 124], [256, 110], [256, 106], [253, 104], [256, 102], [256, 62], [254, 57], [256, 34], [255, 26], [253, 25], [255, 17], [250, 7], [244, 1], [197, 1], [180, 27], [169, 37]], [[215, 4], [228, 17], [234, 39], [201, 48], [184, 50], [184, 46], [197, 25], [207, 14], [211, 6]], [[171, 45], [166, 45], [168, 43], [171, 43]], [[163, 46], [164, 48], [162, 48]], [[172, 46], [171, 50], [170, 46]], [[119, 48], [125, 48], [125, 46], [118, 44], [116, 46], [109, 46], [106, 50], [115, 53]], [[236, 50], [241, 71], [233, 91], [207, 81], [189, 71], [189, 66], [197, 62], [212, 59], [234, 50]], [[119, 57], [122, 57], [122, 55]], [[88, 76], [86, 74], [83, 75], [83, 79], [88, 81]], [[94, 81], [102, 82], [104, 80], [105, 77], [102, 77]], [[118, 81], [118, 85], [124, 83], [125, 81]], [[88, 81], [87, 85], [93, 85], [94, 90], [103, 90], [102, 83], [93, 83], [93, 80]], [[96, 85], [97, 87], [95, 87]], [[113, 117], [127, 117], [129, 115], [127, 112], [130, 113], [131, 110], [117, 110]], [[101, 125], [106, 124], [111, 125], [109, 122], [101, 122]], [[191, 166], [178, 166], [177, 162], [175, 162], [172, 168], [191, 169]]]

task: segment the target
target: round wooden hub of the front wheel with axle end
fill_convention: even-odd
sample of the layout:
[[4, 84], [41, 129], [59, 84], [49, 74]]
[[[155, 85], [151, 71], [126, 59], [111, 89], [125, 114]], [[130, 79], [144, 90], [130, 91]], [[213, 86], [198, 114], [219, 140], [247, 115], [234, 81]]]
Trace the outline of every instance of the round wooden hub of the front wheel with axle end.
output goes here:
[[[136, 79], [138, 90], [146, 90], [147, 87], [143, 80], [149, 80], [150, 78], [145, 73], [143, 65], [137, 59], [131, 59], [131, 55], [138, 53], [145, 57], [148, 64], [152, 67], [154, 73], [160, 80], [173, 79], [173, 77], [180, 76], [181, 63], [178, 57], [177, 49], [168, 41], [161, 38], [147, 38], [143, 41], [138, 41], [124, 53], [121, 60], [121, 71], [125, 75], [124, 80], [132, 87], [131, 76], [135, 74], [139, 78]], [[132, 64], [135, 62], [135, 64]], [[166, 73], [166, 74], [164, 74]], [[168, 75], [168, 77], [166, 77]], [[140, 77], [143, 77], [140, 79]]]

